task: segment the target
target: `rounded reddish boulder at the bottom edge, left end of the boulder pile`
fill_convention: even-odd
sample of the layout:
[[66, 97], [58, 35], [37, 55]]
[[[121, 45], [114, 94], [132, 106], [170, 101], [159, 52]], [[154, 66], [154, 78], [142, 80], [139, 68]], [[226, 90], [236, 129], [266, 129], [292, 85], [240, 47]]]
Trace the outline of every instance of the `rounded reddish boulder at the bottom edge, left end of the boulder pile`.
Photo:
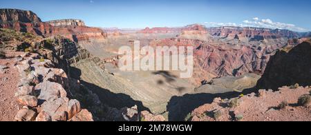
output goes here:
[[35, 121], [36, 116], [37, 115], [35, 111], [23, 108], [17, 112], [15, 121]]

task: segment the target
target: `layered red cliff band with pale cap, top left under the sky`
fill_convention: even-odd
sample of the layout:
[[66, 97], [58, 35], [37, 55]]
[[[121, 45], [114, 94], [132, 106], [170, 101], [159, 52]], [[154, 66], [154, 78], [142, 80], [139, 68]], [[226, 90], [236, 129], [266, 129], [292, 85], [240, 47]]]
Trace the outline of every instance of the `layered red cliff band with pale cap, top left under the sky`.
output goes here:
[[102, 41], [107, 35], [100, 28], [90, 28], [77, 19], [42, 22], [36, 14], [25, 10], [1, 9], [0, 28], [29, 32], [42, 37], [62, 35], [76, 42]]

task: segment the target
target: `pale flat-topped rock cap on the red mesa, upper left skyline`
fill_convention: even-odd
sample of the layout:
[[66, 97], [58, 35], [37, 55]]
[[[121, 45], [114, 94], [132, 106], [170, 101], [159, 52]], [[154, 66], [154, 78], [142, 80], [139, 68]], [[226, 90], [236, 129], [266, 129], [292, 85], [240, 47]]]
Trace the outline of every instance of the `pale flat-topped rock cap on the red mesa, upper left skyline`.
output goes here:
[[55, 27], [71, 27], [71, 26], [86, 26], [84, 21], [79, 19], [63, 19], [63, 20], [53, 20], [53, 21], [46, 21], [50, 25]]

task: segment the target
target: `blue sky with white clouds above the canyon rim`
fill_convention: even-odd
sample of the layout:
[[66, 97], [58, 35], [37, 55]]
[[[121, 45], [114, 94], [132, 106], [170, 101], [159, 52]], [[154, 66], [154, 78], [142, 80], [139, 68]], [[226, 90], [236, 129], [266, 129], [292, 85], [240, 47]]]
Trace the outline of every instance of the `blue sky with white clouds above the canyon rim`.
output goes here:
[[0, 0], [42, 21], [82, 19], [102, 28], [214, 26], [311, 31], [310, 0]]

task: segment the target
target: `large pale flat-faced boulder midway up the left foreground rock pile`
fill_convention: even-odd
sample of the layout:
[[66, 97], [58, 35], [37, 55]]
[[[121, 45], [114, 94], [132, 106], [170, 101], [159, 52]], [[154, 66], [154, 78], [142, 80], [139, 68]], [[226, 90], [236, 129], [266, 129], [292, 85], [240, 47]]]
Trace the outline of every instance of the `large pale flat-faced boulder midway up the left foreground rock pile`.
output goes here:
[[36, 85], [35, 92], [40, 93], [38, 98], [43, 101], [54, 101], [57, 98], [66, 98], [67, 96], [67, 92], [62, 85], [50, 81], [44, 81]]

